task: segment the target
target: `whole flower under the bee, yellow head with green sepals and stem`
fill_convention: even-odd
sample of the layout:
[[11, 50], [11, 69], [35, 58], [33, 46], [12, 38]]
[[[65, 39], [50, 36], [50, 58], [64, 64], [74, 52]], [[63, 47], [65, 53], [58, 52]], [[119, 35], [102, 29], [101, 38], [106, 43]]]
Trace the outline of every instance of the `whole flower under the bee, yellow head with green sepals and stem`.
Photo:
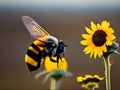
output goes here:
[[[53, 60], [51, 60], [53, 59]], [[40, 76], [45, 75], [43, 83], [45, 83], [48, 79], [51, 80], [50, 90], [58, 90], [59, 89], [59, 80], [60, 78], [69, 77], [72, 74], [67, 71], [68, 64], [64, 57], [59, 58], [57, 62], [57, 57], [52, 56], [46, 57], [44, 66], [45, 70], [36, 74], [35, 78], [38, 79]]]

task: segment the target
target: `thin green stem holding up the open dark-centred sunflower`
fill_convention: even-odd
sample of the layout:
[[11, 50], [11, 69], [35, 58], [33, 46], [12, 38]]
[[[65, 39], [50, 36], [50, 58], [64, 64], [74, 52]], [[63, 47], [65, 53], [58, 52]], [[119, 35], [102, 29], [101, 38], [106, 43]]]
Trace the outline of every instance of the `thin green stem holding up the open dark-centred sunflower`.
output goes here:
[[104, 57], [104, 64], [105, 64], [106, 90], [111, 90], [109, 56]]

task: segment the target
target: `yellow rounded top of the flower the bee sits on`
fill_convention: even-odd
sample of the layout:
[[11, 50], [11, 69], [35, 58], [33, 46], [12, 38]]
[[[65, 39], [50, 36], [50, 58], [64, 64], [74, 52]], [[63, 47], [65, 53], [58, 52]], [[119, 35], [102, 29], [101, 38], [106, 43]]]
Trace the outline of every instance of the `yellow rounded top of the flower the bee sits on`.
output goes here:
[[[52, 59], [57, 60], [57, 57], [52, 57]], [[68, 68], [67, 60], [64, 57], [61, 57], [58, 63], [52, 62], [49, 57], [46, 57], [44, 64], [45, 64], [45, 69], [48, 72], [54, 69], [61, 69], [61, 70], [67, 71], [67, 68]]]

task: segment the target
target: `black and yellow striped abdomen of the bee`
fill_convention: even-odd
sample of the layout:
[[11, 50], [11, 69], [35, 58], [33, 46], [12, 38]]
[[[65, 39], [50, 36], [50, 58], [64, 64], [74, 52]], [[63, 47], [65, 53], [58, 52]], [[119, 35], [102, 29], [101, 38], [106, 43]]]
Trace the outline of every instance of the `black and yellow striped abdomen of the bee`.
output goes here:
[[30, 71], [37, 70], [40, 67], [45, 43], [35, 40], [29, 46], [27, 54], [25, 55], [25, 63]]

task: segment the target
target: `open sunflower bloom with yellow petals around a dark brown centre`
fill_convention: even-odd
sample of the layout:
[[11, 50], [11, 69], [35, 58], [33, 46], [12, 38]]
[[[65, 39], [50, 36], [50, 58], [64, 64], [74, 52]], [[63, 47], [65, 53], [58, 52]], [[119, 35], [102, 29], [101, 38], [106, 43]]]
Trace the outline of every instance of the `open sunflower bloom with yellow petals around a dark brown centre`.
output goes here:
[[83, 52], [90, 54], [90, 57], [92, 55], [94, 55], [94, 58], [97, 55], [101, 57], [103, 52], [107, 52], [107, 46], [111, 46], [112, 41], [116, 38], [114, 30], [107, 21], [102, 21], [101, 24], [95, 24], [91, 21], [91, 28], [85, 27], [85, 29], [87, 34], [82, 34], [85, 40], [82, 40], [80, 43], [87, 45]]

